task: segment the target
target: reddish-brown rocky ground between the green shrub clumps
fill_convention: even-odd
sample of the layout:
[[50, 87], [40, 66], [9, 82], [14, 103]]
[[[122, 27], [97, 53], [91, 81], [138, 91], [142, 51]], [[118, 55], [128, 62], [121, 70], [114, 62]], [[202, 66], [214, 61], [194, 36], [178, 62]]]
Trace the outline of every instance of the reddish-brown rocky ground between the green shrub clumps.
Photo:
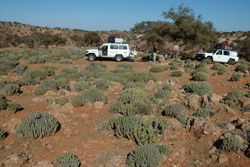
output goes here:
[[[112, 71], [118, 64], [114, 61], [96, 61], [107, 65], [107, 71]], [[84, 69], [90, 62], [81, 59], [70, 66]], [[123, 62], [124, 63], [124, 62]], [[152, 62], [141, 61], [137, 58], [130, 64], [137, 72], [148, 73], [154, 65]], [[157, 63], [158, 64], [158, 63]], [[58, 73], [65, 65], [54, 65]], [[163, 65], [163, 64], [162, 64]], [[41, 64], [29, 65], [40, 69]], [[193, 82], [190, 73], [184, 73], [180, 78], [171, 77], [172, 70], [154, 73], [159, 81], [149, 81], [146, 86], [148, 93], [155, 93], [162, 89], [165, 83], [173, 85], [172, 98], [161, 107], [170, 104], [182, 103], [187, 112], [194, 112], [203, 106], [212, 106], [216, 109], [216, 115], [208, 118], [190, 116], [187, 124], [183, 125], [176, 118], [167, 116], [171, 124], [166, 128], [164, 135], [157, 141], [170, 149], [170, 154], [164, 156], [160, 167], [175, 166], [238, 166], [245, 167], [250, 163], [249, 139], [250, 139], [250, 99], [242, 97], [238, 99], [237, 106], [230, 108], [220, 103], [232, 90], [242, 90], [249, 93], [246, 84], [250, 82], [250, 76], [243, 77], [241, 81], [230, 82], [229, 79], [235, 66], [228, 65], [228, 72], [224, 75], [212, 76], [214, 70], [208, 65], [210, 79], [207, 81], [214, 88], [212, 98], [204, 95], [189, 95], [181, 88], [184, 83]], [[0, 80], [17, 80], [20, 77], [8, 75]], [[9, 133], [8, 137], [0, 141], [0, 166], [13, 167], [52, 167], [55, 157], [63, 152], [73, 152], [86, 167], [125, 167], [127, 154], [137, 147], [134, 141], [126, 138], [117, 138], [113, 131], [106, 127], [108, 120], [113, 116], [109, 107], [114, 104], [123, 85], [114, 83], [105, 95], [108, 104], [102, 102], [89, 103], [83, 107], [74, 107], [71, 103], [64, 106], [49, 104], [49, 101], [59, 97], [58, 92], [48, 91], [45, 95], [34, 95], [36, 86], [23, 86], [20, 95], [8, 96], [11, 102], [20, 103], [23, 110], [12, 113], [8, 110], [0, 111], [0, 127]], [[78, 92], [66, 92], [64, 97], [72, 98]], [[61, 124], [61, 129], [53, 136], [37, 140], [26, 140], [15, 134], [20, 122], [30, 113], [35, 111], [48, 111], [55, 116]], [[145, 119], [156, 117], [144, 116]], [[237, 152], [221, 151], [221, 141], [230, 135], [236, 135], [243, 143], [243, 148]]]

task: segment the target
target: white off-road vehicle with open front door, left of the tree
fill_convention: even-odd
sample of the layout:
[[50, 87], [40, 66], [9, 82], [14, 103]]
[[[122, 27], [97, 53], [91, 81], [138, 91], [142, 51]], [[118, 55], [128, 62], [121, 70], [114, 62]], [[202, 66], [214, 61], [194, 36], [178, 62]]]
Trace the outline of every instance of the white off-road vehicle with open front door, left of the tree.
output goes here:
[[89, 61], [94, 61], [96, 58], [112, 58], [115, 61], [122, 61], [126, 58], [132, 58], [136, 56], [136, 46], [132, 46], [131, 49], [126, 43], [104, 43], [98, 49], [87, 50], [86, 56]]

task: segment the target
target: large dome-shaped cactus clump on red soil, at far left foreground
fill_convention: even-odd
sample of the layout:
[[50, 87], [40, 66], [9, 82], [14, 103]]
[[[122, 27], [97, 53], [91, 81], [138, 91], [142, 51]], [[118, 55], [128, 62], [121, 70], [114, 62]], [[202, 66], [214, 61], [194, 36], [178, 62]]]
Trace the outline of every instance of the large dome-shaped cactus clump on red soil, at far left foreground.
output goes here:
[[43, 138], [55, 134], [60, 124], [47, 112], [29, 114], [19, 125], [16, 133], [26, 139]]

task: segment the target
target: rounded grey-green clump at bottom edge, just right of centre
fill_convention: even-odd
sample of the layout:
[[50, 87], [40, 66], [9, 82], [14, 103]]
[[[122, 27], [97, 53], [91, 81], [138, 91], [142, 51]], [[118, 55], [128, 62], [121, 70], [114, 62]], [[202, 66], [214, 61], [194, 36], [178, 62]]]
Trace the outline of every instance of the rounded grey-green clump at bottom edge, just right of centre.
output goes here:
[[128, 167], [156, 167], [163, 161], [161, 148], [168, 149], [161, 145], [143, 145], [132, 150], [126, 160]]

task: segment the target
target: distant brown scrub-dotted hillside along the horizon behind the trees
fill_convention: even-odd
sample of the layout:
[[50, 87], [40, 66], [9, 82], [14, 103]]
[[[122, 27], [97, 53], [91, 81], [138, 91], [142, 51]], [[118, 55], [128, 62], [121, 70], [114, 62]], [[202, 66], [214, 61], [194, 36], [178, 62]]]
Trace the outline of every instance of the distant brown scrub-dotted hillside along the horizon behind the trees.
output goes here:
[[[29, 24], [22, 24], [18, 22], [3, 22], [0, 21], [0, 48], [26, 47], [24, 39], [28, 40], [34, 33], [45, 33], [53, 35], [59, 42], [50, 47], [85, 47], [87, 44], [82, 42], [84, 36], [91, 31], [69, 28], [49, 28], [32, 26]], [[93, 32], [92, 32], [93, 33]], [[128, 41], [129, 44], [135, 44], [138, 50], [147, 52], [150, 50], [150, 46], [143, 40], [143, 34], [133, 33], [130, 31], [95, 31], [100, 37], [99, 43], [95, 43], [97, 46], [100, 43], [107, 42], [109, 35], [116, 36], [117, 38], [123, 38]], [[250, 38], [250, 31], [248, 32], [218, 32], [218, 43], [228, 42], [230, 46], [234, 47], [238, 52], [245, 39]], [[27, 43], [27, 42], [26, 42]], [[42, 46], [42, 45], [41, 45]], [[43, 47], [43, 46], [42, 46]], [[170, 51], [173, 47], [173, 42], [166, 42], [165, 50]], [[186, 48], [185, 45], [181, 45], [181, 50], [192, 50], [192, 48]]]

